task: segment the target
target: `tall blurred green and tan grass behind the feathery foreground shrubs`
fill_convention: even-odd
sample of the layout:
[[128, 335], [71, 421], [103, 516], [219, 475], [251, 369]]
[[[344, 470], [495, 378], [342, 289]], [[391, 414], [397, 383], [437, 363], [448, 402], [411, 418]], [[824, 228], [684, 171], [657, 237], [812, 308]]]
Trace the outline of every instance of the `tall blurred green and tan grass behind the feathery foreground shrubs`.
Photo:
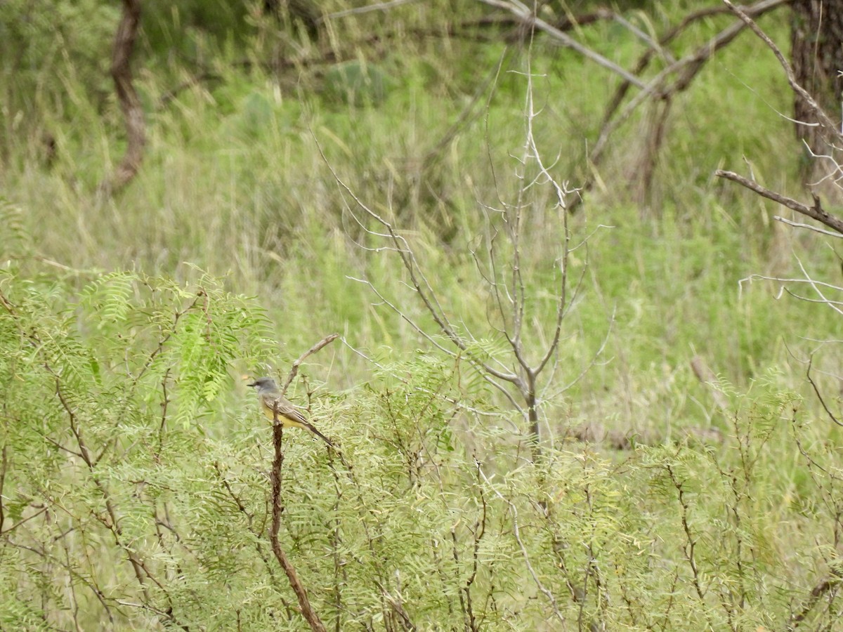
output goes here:
[[[679, 51], [708, 27], [690, 33]], [[582, 35], [619, 62], [640, 51], [620, 40], [616, 26]], [[163, 105], [158, 96], [189, 68], [167, 69], [138, 55], [148, 148], [137, 179], [111, 199], [99, 196], [96, 185], [121, 152], [119, 113], [113, 105], [101, 111], [72, 64], [58, 65], [73, 116], [48, 120], [56, 163], [39, 162], [32, 134], [7, 137], [15, 158], [4, 171], [4, 189], [24, 206], [39, 254], [62, 265], [137, 268], [186, 280], [194, 274], [184, 265], [189, 262], [259, 297], [293, 348], [339, 329], [353, 345], [412, 349], [421, 340], [347, 278], [365, 274], [397, 287], [395, 262], [355, 245], [349, 201], [318, 142], [357, 195], [389, 208], [416, 232], [438, 270], [443, 300], [454, 303], [459, 319], [482, 328], [486, 296], [479, 286], [466, 287], [476, 272], [464, 253], [480, 230], [481, 204], [507, 194], [497, 187], [508, 186], [515, 165], [507, 155], [522, 142], [525, 56], [544, 106], [537, 136], [547, 153], [560, 157], [560, 179], [582, 173], [589, 134], [616, 80], [599, 78], [569, 51], [540, 45], [528, 53], [446, 38], [446, 59], [429, 42], [411, 46], [416, 56], [371, 51], [366, 63], [388, 78], [377, 104], [346, 102], [336, 89], [328, 91], [329, 79], [340, 79], [319, 68], [298, 74], [300, 85], [313, 89], [296, 89], [260, 67], [244, 71], [227, 63], [231, 57], [223, 54], [214, 62], [217, 80], [185, 88]], [[771, 184], [787, 183], [795, 171], [791, 130], [776, 112], [787, 110], [786, 84], [771, 59], [750, 51], [754, 41], [744, 36], [679, 97], [649, 195], [658, 207], [642, 211], [627, 193], [640, 147], [642, 118], [634, 117], [615, 137], [613, 156], [599, 167], [599, 186], [575, 218], [582, 234], [612, 227], [581, 262], [589, 270], [576, 310], [579, 331], [566, 345], [572, 362], [588, 362], [615, 314], [606, 363], [570, 394], [593, 402], [585, 406], [589, 415], [621, 426], [710, 416], [705, 389], [690, 378], [690, 356], [705, 356], [716, 372], [746, 385], [765, 367], [788, 362], [783, 340], [798, 346], [799, 336], [819, 339], [833, 329], [831, 314], [801, 319], [804, 305], [774, 304], [761, 287], [738, 292], [739, 279], [782, 260], [771, 250], [781, 240], [772, 236], [770, 206], [726, 190], [711, 173], [723, 165], [739, 168], [744, 156]], [[497, 80], [486, 84], [496, 72]], [[440, 146], [461, 114], [463, 125]], [[535, 216], [539, 227], [543, 221]], [[528, 254], [540, 261], [540, 230], [535, 234]], [[803, 238], [795, 247], [814, 265], [833, 265], [814, 243]], [[787, 272], [788, 265], [779, 268]], [[410, 295], [404, 300], [407, 309], [419, 308]], [[355, 383], [365, 370], [347, 356], [342, 383]]]

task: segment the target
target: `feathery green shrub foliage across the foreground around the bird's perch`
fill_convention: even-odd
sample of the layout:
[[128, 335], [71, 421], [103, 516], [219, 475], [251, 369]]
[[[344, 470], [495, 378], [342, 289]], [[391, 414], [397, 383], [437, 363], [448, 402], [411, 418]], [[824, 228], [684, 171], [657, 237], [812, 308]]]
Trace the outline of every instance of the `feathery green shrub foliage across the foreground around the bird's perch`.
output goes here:
[[[0, 291], [4, 627], [301, 629], [268, 542], [270, 429], [228, 377], [274, 353], [260, 309], [208, 276], [74, 293], [7, 269]], [[464, 361], [392, 355], [309, 398], [341, 456], [284, 435], [282, 546], [330, 627], [781, 627], [837, 568], [840, 433], [775, 376], [722, 447], [532, 463]]]

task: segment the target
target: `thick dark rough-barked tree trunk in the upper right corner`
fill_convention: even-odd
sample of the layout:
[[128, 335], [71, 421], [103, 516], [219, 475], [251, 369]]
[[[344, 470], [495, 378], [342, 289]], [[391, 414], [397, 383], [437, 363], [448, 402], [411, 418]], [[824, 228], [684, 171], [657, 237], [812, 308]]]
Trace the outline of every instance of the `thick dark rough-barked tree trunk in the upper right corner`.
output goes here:
[[[791, 31], [791, 59], [797, 83], [813, 95], [833, 121], [840, 122], [843, 96], [843, 0], [794, 0]], [[817, 123], [808, 104], [797, 94], [794, 103], [796, 133], [811, 152], [833, 155], [832, 139]], [[838, 128], [838, 131], [840, 129]], [[808, 157], [803, 175], [819, 179], [835, 169], [828, 161]], [[840, 159], [838, 159], [840, 162]], [[819, 169], [819, 170], [818, 170]]]

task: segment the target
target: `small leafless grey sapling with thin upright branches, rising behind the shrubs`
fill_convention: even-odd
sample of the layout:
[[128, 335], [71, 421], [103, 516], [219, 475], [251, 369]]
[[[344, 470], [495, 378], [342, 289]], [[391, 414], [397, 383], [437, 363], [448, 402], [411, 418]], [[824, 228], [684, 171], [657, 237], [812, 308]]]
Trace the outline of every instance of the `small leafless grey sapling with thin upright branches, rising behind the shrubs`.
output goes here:
[[[568, 224], [569, 204], [577, 190], [552, 173], [554, 165], [545, 163], [542, 151], [534, 137], [534, 119], [539, 114], [533, 99], [533, 77], [525, 73], [527, 96], [524, 108], [525, 135], [521, 153], [516, 158], [518, 167], [515, 177], [518, 182], [514, 201], [506, 201], [506, 195], [498, 188], [498, 206], [481, 201], [485, 213], [485, 230], [478, 239], [478, 245], [471, 249], [478, 275], [488, 292], [487, 324], [490, 329], [484, 335], [475, 335], [463, 319], [443, 305], [443, 297], [434, 287], [434, 278], [421, 262], [409, 238], [397, 225], [394, 217], [376, 212], [368, 206], [347, 185], [328, 163], [341, 190], [350, 196], [354, 207], [348, 211], [362, 230], [364, 238], [376, 244], [357, 245], [370, 252], [389, 251], [395, 253], [409, 278], [408, 286], [415, 293], [424, 311], [432, 319], [439, 339], [421, 322], [411, 316], [404, 305], [384, 295], [379, 287], [365, 278], [352, 278], [362, 282], [374, 292], [385, 306], [394, 311], [411, 328], [439, 351], [453, 357], [464, 358], [476, 369], [486, 383], [491, 384], [504, 395], [507, 401], [528, 422], [533, 458], [540, 456], [541, 404], [550, 389], [564, 391], [583, 377], [594, 359], [576, 375], [568, 375], [568, 382], [561, 387], [554, 385], [559, 368], [559, 348], [562, 340], [563, 323], [572, 308], [572, 303], [583, 281], [585, 267], [577, 281], [572, 281], [569, 256], [573, 250], [587, 248], [588, 238], [579, 244], [572, 244]], [[317, 141], [317, 144], [319, 142]], [[321, 152], [321, 147], [319, 146]], [[496, 179], [497, 183], [497, 179]], [[544, 190], [544, 197], [539, 190]], [[546, 206], [545, 206], [546, 205]], [[525, 254], [529, 238], [529, 217], [543, 212], [549, 206], [553, 217], [543, 217], [541, 233], [548, 233], [555, 227], [556, 240], [555, 287], [552, 292], [556, 303], [552, 322], [543, 323], [535, 313], [533, 303], [536, 297], [528, 290], [529, 262]], [[375, 228], [371, 228], [371, 227]], [[533, 234], [532, 237], [535, 237]], [[550, 240], [548, 240], [550, 241]], [[531, 281], [531, 280], [530, 280]], [[529, 313], [529, 314], [528, 314]], [[490, 338], [505, 341], [505, 355], [489, 351]], [[597, 351], [596, 358], [603, 351], [604, 344]]]

